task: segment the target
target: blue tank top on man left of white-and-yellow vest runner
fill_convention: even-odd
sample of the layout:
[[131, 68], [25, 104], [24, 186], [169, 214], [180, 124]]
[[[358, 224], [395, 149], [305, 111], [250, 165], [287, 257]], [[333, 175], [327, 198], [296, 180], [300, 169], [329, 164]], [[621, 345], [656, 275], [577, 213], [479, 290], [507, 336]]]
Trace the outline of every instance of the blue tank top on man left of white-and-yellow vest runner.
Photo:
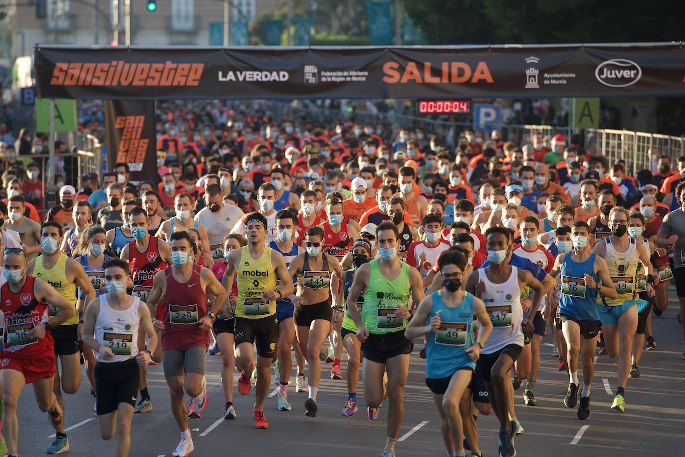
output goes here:
[[585, 262], [578, 263], [571, 258], [571, 252], [569, 252], [564, 258], [564, 263], [561, 264], [559, 314], [566, 314], [578, 321], [599, 321], [599, 312], [597, 312], [599, 290], [585, 286], [583, 278], [586, 273], [599, 284], [599, 277], [595, 274], [595, 254], [592, 254]]

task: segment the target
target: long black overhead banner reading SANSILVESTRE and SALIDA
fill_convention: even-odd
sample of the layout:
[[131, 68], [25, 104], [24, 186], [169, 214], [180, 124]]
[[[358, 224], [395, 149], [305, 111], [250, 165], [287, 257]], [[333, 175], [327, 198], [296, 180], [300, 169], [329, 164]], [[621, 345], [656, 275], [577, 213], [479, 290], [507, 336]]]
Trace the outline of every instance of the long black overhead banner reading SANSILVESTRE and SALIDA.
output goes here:
[[685, 49], [36, 47], [38, 97], [464, 99], [685, 95]]

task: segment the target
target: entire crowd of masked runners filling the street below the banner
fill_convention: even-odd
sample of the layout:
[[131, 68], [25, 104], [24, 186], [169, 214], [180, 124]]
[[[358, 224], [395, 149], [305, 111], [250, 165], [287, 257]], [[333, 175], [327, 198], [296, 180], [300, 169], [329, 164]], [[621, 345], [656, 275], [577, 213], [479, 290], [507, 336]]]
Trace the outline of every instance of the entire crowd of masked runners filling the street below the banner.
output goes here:
[[[362, 406], [375, 421], [387, 399], [383, 455], [395, 456], [410, 354], [425, 343], [447, 456], [482, 456], [476, 419], [493, 413], [499, 456], [516, 456], [516, 408], [536, 406], [545, 382], [543, 336], [568, 380], [558, 401], [586, 420], [630, 408], [672, 280], [684, 317], [685, 156], [631, 175], [580, 136], [466, 130], [448, 148], [421, 129], [244, 113], [217, 128], [185, 111], [157, 128], [159, 180], [129, 182], [117, 163], [62, 186], [45, 217], [39, 164], [8, 158], [0, 455], [19, 455], [25, 384], [55, 428], [47, 453], [69, 450], [64, 393], [84, 388], [84, 364], [101, 436], [126, 456], [134, 413], [154, 414], [147, 367], [162, 364], [173, 456], [193, 451], [192, 419], [248, 415], [234, 373], [260, 429], [267, 413], [338, 415], [319, 410], [322, 375], [347, 383], [342, 416]], [[617, 359], [618, 387], [590, 406], [597, 349]], [[208, 354], [223, 362], [211, 405]]]

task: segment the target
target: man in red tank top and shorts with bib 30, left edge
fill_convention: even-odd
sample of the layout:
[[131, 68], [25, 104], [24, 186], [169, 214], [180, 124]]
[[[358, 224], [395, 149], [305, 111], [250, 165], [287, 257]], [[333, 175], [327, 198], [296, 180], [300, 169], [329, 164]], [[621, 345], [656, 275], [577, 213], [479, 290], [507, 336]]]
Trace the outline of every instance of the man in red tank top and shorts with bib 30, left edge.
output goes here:
[[[19, 433], [16, 410], [25, 384], [34, 384], [38, 407], [48, 413], [53, 427], [57, 429], [62, 425], [62, 408], [53, 393], [55, 353], [49, 330], [66, 322], [76, 312], [74, 305], [50, 284], [27, 276], [26, 263], [22, 249], [5, 249], [3, 267], [8, 282], [0, 290], [0, 310], [5, 315], [6, 339], [0, 373], [5, 389], [3, 432], [7, 454], [14, 455], [18, 455]], [[48, 303], [60, 310], [51, 319], [48, 319]], [[68, 451], [69, 442], [64, 447], [62, 449]]]

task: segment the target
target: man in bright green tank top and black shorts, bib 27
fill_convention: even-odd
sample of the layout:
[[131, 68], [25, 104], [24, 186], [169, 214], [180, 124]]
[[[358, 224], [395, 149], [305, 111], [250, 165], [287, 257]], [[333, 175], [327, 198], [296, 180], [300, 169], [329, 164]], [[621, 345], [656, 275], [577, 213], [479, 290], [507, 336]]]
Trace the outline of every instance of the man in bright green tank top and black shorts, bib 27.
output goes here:
[[[411, 319], [412, 307], [423, 299], [421, 274], [397, 258], [399, 232], [397, 225], [387, 221], [377, 229], [380, 258], [358, 269], [347, 306], [357, 325], [357, 338], [364, 351], [364, 397], [369, 406], [369, 419], [378, 417], [378, 406], [383, 401], [383, 374], [388, 371], [388, 436], [384, 457], [395, 456], [395, 441], [404, 415], [404, 385], [409, 372], [409, 354], [413, 343], [404, 337], [404, 329]], [[357, 299], [364, 292], [364, 306], [360, 317]]]

